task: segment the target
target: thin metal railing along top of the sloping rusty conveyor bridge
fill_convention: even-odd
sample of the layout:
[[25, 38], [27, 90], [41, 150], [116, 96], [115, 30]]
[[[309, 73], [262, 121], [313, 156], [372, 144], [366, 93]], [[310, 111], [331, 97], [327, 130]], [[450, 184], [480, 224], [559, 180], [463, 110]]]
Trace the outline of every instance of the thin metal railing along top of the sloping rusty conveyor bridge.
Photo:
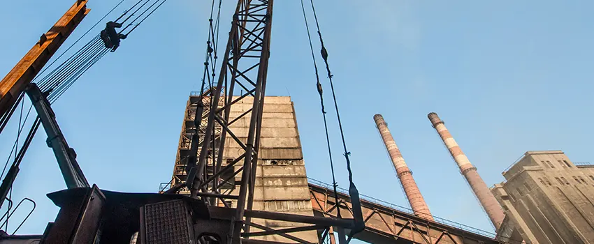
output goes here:
[[[333, 186], [331, 184], [318, 181], [318, 180], [316, 180], [314, 178], [307, 177], [307, 181], [309, 183], [313, 184], [313, 185], [318, 185], [318, 186], [321, 186], [323, 188], [327, 188], [328, 190], [331, 190], [331, 191], [333, 190]], [[337, 191], [340, 192], [340, 193], [342, 193], [342, 194], [349, 195], [349, 190], [347, 190], [347, 189], [337, 188]], [[381, 205], [381, 206], [385, 206], [386, 208], [392, 208], [392, 209], [394, 209], [396, 211], [405, 212], [405, 213], [409, 213], [409, 214], [414, 215], [414, 213], [412, 212], [412, 209], [407, 208], [407, 207], [399, 206], [399, 205], [396, 205], [396, 204], [391, 204], [391, 203], [389, 203], [387, 201], [383, 201], [383, 200], [377, 199], [375, 197], [370, 197], [368, 195], [359, 194], [359, 197], [363, 201], [368, 201], [368, 202], [371, 202], [373, 204], [378, 204], [378, 205]], [[439, 217], [437, 217], [435, 215], [433, 215], [433, 220], [435, 220], [435, 222], [439, 222], [440, 224], [445, 224], [445, 225], [448, 225], [450, 227], [455, 227], [455, 228], [458, 228], [458, 229], [463, 229], [465, 231], [469, 231], [469, 232], [472, 232], [474, 234], [479, 234], [481, 236], [487, 236], [487, 237], [490, 237], [490, 238], [495, 238], [495, 234], [492, 233], [492, 232], [485, 231], [485, 230], [482, 230], [482, 229], [477, 229], [475, 227], [471, 227], [471, 226], [468, 226], [466, 224], [461, 224], [461, 223], [454, 222], [454, 221], [451, 221], [451, 220], [446, 220], [444, 218], [439, 218]]]

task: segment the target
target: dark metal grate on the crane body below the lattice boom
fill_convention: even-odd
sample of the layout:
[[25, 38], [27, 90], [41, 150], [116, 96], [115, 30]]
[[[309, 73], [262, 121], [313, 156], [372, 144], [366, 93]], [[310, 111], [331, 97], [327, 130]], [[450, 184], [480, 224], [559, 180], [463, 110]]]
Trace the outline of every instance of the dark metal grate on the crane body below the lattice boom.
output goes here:
[[193, 242], [189, 209], [182, 200], [147, 204], [144, 207], [144, 218], [147, 243]]

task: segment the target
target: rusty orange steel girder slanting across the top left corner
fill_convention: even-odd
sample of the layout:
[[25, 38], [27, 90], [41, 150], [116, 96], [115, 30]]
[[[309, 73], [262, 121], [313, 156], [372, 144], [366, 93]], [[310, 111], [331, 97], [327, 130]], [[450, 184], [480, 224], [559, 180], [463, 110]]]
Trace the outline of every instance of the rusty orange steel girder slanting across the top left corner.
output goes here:
[[39, 41], [0, 81], [0, 116], [4, 116], [10, 107], [13, 107], [27, 85], [45, 66], [45, 63], [48, 63], [89, 11], [87, 0], [76, 1], [50, 31], [41, 35]]

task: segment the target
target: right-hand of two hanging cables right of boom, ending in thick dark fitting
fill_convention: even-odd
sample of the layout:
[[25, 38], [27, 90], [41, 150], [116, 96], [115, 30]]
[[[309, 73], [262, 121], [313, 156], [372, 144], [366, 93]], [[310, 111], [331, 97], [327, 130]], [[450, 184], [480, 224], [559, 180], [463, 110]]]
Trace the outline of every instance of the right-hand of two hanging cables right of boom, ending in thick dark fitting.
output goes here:
[[[332, 91], [334, 108], [335, 108], [335, 112], [336, 112], [336, 117], [338, 119], [338, 127], [340, 128], [340, 137], [342, 138], [342, 147], [344, 148], [344, 151], [345, 151], [343, 153], [343, 155], [345, 155], [345, 160], [347, 161], [347, 170], [349, 171], [349, 197], [351, 198], [352, 214], [353, 214], [353, 218], [354, 218], [354, 226], [353, 226], [353, 229], [351, 229], [351, 232], [349, 233], [349, 238], [347, 240], [347, 242], [349, 242], [354, 234], [357, 234], [358, 232], [363, 231], [363, 229], [365, 228], [365, 223], [363, 222], [363, 213], [361, 213], [361, 199], [359, 199], [358, 190], [353, 182], [353, 172], [351, 170], [351, 160], [349, 158], [349, 155], [351, 155], [351, 153], [347, 150], [347, 143], [345, 142], [345, 132], [344, 132], [344, 130], [342, 130], [342, 121], [340, 121], [340, 113], [338, 112], [338, 102], [336, 101], [336, 93], [334, 91], [334, 84], [332, 81], [333, 75], [330, 71], [330, 66], [328, 65], [328, 51], [326, 50], [326, 47], [324, 46], [324, 39], [321, 37], [319, 22], [318, 22], [316, 10], [314, 8], [314, 1], [310, 0], [310, 3], [312, 4], [312, 12], [314, 15], [314, 19], [316, 21], [317, 33], [318, 33], [319, 41], [320, 41], [320, 45], [321, 45], [321, 50], [320, 50], [321, 57], [322, 57], [322, 59], [324, 59], [324, 63], [326, 64], [326, 71], [328, 73], [328, 80], [330, 82], [330, 88]], [[305, 10], [304, 10], [304, 12], [305, 12]], [[305, 15], [305, 13], [304, 13], [304, 15]], [[305, 24], [307, 25], [307, 21]], [[307, 29], [309, 29], [309, 27]], [[321, 96], [321, 85], [319, 83], [318, 83], [318, 92], [320, 93], [320, 96]], [[338, 205], [338, 200], [337, 200], [336, 204]], [[340, 213], [340, 211], [338, 211], [338, 212]]]

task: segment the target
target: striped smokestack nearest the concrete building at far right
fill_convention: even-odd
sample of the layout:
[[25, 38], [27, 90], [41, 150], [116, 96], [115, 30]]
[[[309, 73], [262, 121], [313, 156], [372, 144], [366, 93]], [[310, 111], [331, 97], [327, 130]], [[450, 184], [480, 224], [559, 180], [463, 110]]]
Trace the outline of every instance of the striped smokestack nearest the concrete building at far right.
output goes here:
[[456, 164], [460, 167], [461, 174], [466, 178], [470, 188], [472, 188], [472, 191], [475, 192], [475, 196], [477, 196], [481, 202], [488, 218], [493, 222], [495, 229], [499, 229], [501, 222], [503, 222], [503, 218], [505, 218], [505, 214], [497, 202], [497, 199], [495, 199], [493, 193], [491, 193], [481, 176], [479, 176], [477, 168], [470, 164], [470, 161], [466, 158], [466, 155], [464, 155], [460, 146], [458, 146], [456, 141], [454, 141], [454, 138], [451, 137], [451, 134], [449, 134], [449, 131], [444, 125], [444, 121], [442, 121], [435, 113], [429, 113], [428, 117], [433, 128], [435, 128], [437, 133], [440, 134], [440, 137], [442, 137], [449, 153], [451, 153], [451, 157], [454, 158], [454, 161], [456, 161]]

